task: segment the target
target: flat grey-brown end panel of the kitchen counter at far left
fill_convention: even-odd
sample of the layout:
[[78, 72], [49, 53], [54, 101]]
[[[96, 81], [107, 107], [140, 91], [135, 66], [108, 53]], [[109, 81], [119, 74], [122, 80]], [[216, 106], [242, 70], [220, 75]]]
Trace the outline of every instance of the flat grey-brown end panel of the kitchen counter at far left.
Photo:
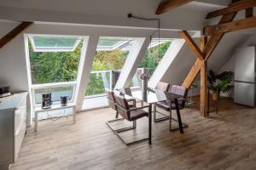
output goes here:
[[14, 156], [14, 114], [0, 112], [0, 165], [13, 162]]

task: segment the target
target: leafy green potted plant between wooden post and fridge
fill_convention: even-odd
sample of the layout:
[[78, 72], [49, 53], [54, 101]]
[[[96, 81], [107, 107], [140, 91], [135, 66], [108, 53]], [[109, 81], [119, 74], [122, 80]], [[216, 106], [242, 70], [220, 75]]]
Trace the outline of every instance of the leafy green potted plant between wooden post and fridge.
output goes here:
[[219, 94], [228, 93], [232, 86], [230, 83], [232, 82], [234, 77], [234, 72], [232, 71], [224, 71], [218, 75], [214, 73], [214, 71], [208, 71], [208, 86], [210, 90], [212, 90], [212, 99], [217, 100]]

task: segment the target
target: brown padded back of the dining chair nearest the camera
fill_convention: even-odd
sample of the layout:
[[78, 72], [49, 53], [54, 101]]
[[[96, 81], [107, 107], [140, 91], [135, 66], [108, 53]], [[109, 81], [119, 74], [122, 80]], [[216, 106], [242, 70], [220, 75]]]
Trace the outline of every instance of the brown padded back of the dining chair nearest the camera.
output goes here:
[[130, 116], [130, 106], [127, 102], [127, 99], [125, 99], [120, 95], [114, 94], [113, 96], [116, 101], [116, 107], [117, 107], [117, 111], [119, 112], [119, 115], [124, 117], [127, 121], [129, 121], [131, 116]]

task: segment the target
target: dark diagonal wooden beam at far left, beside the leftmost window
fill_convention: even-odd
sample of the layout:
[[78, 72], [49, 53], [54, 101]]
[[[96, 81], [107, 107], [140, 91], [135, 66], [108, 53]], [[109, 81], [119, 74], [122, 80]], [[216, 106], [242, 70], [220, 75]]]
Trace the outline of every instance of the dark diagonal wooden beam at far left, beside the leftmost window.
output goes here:
[[0, 48], [3, 48], [5, 44], [14, 39], [20, 32], [24, 31], [28, 26], [31, 26], [32, 22], [21, 22], [19, 26], [16, 26], [12, 31], [9, 31], [4, 37], [0, 39]]

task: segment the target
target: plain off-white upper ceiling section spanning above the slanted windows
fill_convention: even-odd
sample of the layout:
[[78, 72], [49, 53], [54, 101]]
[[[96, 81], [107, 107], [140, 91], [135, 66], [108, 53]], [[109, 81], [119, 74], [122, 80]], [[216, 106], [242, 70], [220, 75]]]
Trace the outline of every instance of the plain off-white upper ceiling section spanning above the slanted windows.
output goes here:
[[0, 19], [110, 26], [157, 27], [155, 22], [129, 20], [128, 13], [160, 17], [161, 27], [201, 30], [207, 12], [223, 8], [230, 0], [196, 0], [165, 14], [155, 15], [160, 0], [2, 0]]

